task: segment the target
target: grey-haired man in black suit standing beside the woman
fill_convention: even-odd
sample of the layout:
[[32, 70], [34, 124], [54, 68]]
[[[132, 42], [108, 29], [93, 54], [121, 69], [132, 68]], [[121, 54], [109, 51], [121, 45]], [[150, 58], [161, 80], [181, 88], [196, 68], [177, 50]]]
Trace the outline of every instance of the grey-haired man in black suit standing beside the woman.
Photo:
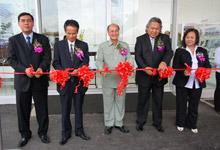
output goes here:
[[[137, 37], [135, 44], [135, 60], [138, 68], [165, 70], [173, 56], [170, 39], [167, 35], [161, 34], [162, 22], [159, 18], [153, 17], [146, 26], [146, 34]], [[162, 99], [164, 85], [167, 79], [159, 80], [159, 75], [152, 76], [153, 70], [136, 72], [138, 84], [137, 102], [137, 126], [138, 131], [143, 130], [147, 121], [149, 110], [150, 92], [152, 90], [153, 126], [164, 132], [162, 127]]]

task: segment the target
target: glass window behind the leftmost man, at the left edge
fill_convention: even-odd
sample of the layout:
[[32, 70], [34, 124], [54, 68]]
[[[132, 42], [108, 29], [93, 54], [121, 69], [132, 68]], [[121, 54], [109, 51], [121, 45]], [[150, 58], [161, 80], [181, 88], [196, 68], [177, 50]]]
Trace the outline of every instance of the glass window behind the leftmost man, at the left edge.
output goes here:
[[[17, 17], [24, 11], [31, 13], [35, 18], [35, 0], [0, 0], [0, 72], [14, 71], [7, 63], [8, 39], [21, 32]], [[14, 75], [1, 74], [0, 76], [3, 82], [0, 96], [14, 94]]]

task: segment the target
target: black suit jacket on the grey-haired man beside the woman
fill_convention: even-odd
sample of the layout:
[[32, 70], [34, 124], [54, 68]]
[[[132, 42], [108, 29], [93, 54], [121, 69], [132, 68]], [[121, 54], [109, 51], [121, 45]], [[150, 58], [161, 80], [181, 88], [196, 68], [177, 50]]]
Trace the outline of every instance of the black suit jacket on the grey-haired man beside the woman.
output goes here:
[[[158, 51], [157, 49], [159, 38], [161, 38], [165, 46], [162, 51]], [[166, 64], [169, 65], [170, 60], [173, 56], [170, 38], [167, 35], [160, 33], [156, 37], [154, 44], [154, 50], [152, 51], [150, 37], [147, 33], [137, 37], [137, 41], [135, 44], [135, 61], [138, 65], [138, 68], [158, 68], [159, 64], [162, 61], [166, 62]], [[136, 72], [136, 82], [138, 85], [146, 87], [151, 80], [153, 80], [157, 86], [163, 86], [167, 83], [167, 79], [162, 79], [161, 81], [159, 81], [158, 74], [152, 77], [146, 74], [144, 71]]]

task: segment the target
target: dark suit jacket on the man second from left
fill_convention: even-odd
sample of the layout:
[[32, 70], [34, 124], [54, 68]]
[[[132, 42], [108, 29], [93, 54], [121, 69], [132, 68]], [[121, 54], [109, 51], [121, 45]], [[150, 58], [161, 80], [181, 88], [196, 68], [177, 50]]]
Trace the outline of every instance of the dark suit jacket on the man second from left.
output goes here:
[[[53, 61], [54, 69], [57, 69], [57, 70], [65, 70], [67, 68], [78, 69], [82, 67], [83, 65], [87, 65], [87, 66], [89, 65], [88, 44], [76, 39], [75, 46], [78, 48], [81, 48], [81, 50], [84, 53], [84, 57], [82, 58], [82, 61], [75, 54], [73, 55], [73, 62], [71, 61], [68, 41], [66, 39], [55, 43], [54, 61]], [[57, 84], [57, 91], [61, 95], [66, 94], [72, 88], [75, 89], [75, 87], [78, 85], [79, 83], [78, 77], [73, 77], [73, 78], [74, 78], [74, 82], [71, 83], [71, 80], [68, 80], [63, 90], [60, 90], [61, 85]], [[81, 82], [79, 91], [85, 94], [88, 88], [83, 87], [82, 85], [83, 85], [83, 82]]]

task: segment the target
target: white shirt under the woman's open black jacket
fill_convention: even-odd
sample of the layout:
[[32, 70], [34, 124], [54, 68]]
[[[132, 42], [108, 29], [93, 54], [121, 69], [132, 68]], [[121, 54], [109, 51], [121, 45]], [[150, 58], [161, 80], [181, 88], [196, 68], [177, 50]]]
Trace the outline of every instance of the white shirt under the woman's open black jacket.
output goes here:
[[[188, 47], [186, 47], [186, 50], [190, 53], [191, 58], [192, 58], [192, 69], [198, 68], [198, 60], [196, 58], [197, 48], [198, 48], [198, 46], [195, 46], [194, 54], [192, 54], [191, 50]], [[196, 89], [200, 88], [199, 81], [196, 78], [195, 72], [196, 72], [196, 70], [191, 71], [190, 76], [189, 76], [189, 80], [188, 80], [187, 84], [185, 85], [186, 88], [192, 89], [194, 82], [195, 82], [195, 88]]]

